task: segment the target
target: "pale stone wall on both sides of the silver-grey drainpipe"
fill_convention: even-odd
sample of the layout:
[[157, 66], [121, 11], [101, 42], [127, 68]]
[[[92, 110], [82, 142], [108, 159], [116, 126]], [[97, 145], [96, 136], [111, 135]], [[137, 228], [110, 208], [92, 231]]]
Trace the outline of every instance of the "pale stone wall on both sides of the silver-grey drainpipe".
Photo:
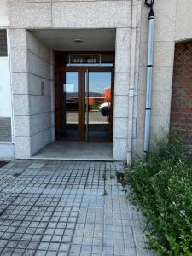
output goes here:
[[[148, 12], [143, 5], [139, 82], [137, 102], [137, 137], [135, 154], [143, 155], [146, 64], [148, 49]], [[154, 3], [154, 83], [152, 89], [151, 145], [169, 131], [172, 74], [175, 43], [192, 38], [192, 2], [190, 0], [160, 0]]]

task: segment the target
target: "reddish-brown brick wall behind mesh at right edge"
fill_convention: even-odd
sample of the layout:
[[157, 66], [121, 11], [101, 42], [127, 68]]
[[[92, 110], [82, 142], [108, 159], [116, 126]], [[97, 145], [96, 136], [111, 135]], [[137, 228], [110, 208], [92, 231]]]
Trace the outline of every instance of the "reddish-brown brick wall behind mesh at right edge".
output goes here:
[[176, 44], [171, 131], [192, 145], [192, 42]]

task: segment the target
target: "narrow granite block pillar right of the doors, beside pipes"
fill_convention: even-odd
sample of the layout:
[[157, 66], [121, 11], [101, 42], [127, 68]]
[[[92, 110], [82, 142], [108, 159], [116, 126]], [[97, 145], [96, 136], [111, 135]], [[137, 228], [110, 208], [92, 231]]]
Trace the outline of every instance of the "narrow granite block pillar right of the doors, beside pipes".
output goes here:
[[116, 29], [113, 158], [126, 160], [130, 83], [131, 28]]

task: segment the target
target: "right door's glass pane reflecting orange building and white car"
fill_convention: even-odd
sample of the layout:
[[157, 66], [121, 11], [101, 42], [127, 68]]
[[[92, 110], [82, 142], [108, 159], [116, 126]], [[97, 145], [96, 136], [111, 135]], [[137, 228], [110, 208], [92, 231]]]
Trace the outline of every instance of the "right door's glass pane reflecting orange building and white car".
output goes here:
[[[110, 137], [111, 72], [88, 72], [88, 96], [85, 100], [85, 124], [88, 140], [106, 140]], [[87, 91], [86, 91], [87, 94]]]

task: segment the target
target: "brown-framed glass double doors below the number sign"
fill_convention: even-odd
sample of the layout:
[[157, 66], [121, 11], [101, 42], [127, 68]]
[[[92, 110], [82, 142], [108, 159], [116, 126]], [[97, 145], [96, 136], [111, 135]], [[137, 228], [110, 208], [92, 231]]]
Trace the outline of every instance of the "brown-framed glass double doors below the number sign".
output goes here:
[[80, 56], [75, 63], [55, 68], [56, 137], [112, 141], [113, 65], [84, 63], [87, 55]]

